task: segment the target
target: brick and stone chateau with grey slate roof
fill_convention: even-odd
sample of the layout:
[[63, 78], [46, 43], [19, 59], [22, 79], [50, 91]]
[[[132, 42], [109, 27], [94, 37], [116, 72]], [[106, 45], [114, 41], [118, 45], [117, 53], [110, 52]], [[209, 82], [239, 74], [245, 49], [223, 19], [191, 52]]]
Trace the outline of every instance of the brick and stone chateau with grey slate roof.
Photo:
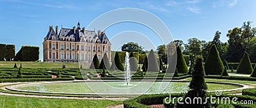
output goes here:
[[102, 31], [88, 31], [80, 23], [73, 29], [61, 27], [58, 33], [58, 26], [55, 31], [49, 26], [49, 31], [43, 43], [44, 61], [78, 62], [92, 61], [97, 54], [99, 60], [104, 53], [111, 61], [111, 43], [106, 34]]

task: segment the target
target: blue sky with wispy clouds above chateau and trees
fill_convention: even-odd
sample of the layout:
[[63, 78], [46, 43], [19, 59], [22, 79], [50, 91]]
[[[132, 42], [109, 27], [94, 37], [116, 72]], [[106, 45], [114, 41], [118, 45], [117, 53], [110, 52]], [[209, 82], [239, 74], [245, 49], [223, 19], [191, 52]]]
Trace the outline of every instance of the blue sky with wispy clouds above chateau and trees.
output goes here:
[[[22, 45], [40, 47], [49, 26], [72, 28], [77, 25], [86, 27], [103, 13], [118, 8], [140, 8], [153, 13], [172, 33], [174, 40], [196, 37], [200, 40], [212, 40], [214, 33], [221, 31], [221, 41], [227, 41], [227, 31], [241, 27], [245, 21], [256, 23], [256, 1], [254, 0], [190, 0], [190, 1], [25, 1], [0, 0], [0, 43], [15, 44], [16, 51]], [[115, 17], [115, 16], [113, 16]], [[93, 30], [93, 29], [90, 29]], [[95, 29], [97, 31], [97, 29]], [[105, 30], [112, 38], [125, 35], [123, 31], [136, 31], [133, 35], [152, 36], [152, 31], [140, 24], [116, 24]], [[118, 34], [119, 33], [119, 34]], [[154, 33], [153, 33], [154, 34]], [[126, 33], [127, 41], [132, 38]], [[142, 35], [141, 35], [142, 36]], [[124, 36], [125, 37], [125, 36]], [[115, 38], [113, 38], [114, 40]], [[131, 40], [132, 41], [132, 40]], [[116, 42], [116, 41], [115, 41]], [[120, 43], [113, 43], [113, 50]], [[152, 45], [138, 42], [145, 49], [154, 49]], [[154, 43], [155, 47], [160, 43]]]

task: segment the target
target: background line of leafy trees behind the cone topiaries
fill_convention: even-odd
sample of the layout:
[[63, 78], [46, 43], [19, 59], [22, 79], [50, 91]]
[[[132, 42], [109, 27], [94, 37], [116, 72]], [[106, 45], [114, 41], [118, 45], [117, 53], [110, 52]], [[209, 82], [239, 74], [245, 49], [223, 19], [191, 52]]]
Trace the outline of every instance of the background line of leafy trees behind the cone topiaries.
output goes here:
[[[205, 40], [198, 40], [198, 38], [189, 38], [188, 43], [184, 43], [182, 40], [174, 40], [168, 45], [159, 45], [157, 47], [157, 53], [159, 57], [163, 59], [163, 63], [167, 63], [166, 50], [172, 49], [173, 44], [180, 46], [186, 62], [193, 61], [196, 55], [202, 55], [204, 62], [207, 58], [211, 46], [214, 44], [220, 54], [222, 61], [228, 61], [232, 63], [239, 63], [243, 57], [244, 52], [247, 52], [249, 58], [253, 63], [256, 62], [256, 27], [252, 26], [251, 21], [243, 22], [241, 27], [234, 27], [229, 29], [227, 33], [227, 42], [221, 42], [221, 31], [216, 31], [213, 35], [212, 41], [206, 42]], [[143, 50], [143, 47], [138, 43], [129, 42], [122, 46], [122, 51], [127, 52], [139, 52], [143, 54], [147, 50]]]

